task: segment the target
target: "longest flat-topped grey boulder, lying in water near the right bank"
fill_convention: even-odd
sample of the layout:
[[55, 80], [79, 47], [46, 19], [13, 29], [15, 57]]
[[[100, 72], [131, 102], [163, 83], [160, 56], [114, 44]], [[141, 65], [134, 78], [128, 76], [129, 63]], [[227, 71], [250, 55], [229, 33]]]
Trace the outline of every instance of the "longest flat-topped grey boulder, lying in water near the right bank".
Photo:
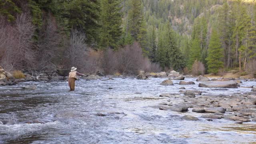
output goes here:
[[237, 84], [234, 81], [210, 81], [200, 83], [198, 86], [204, 88], [237, 88]]

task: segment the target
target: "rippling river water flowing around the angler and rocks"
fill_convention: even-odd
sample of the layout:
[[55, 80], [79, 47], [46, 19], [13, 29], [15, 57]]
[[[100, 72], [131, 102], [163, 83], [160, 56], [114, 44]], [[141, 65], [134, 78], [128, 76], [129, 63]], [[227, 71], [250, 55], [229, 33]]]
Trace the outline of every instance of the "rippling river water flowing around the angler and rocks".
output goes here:
[[[68, 92], [68, 83], [64, 81], [24, 82], [0, 87], [0, 119], [10, 122], [0, 125], [0, 143], [256, 144], [256, 122], [235, 124], [226, 119], [209, 122], [191, 109], [181, 113], [154, 108], [168, 100], [159, 97], [160, 94], [178, 93], [181, 87], [178, 84], [161, 86], [163, 78], [104, 79], [107, 78], [76, 81], [75, 92]], [[195, 82], [195, 79], [186, 81]], [[20, 88], [31, 84], [37, 89]], [[256, 82], [243, 84], [253, 85], [256, 86]], [[251, 90], [211, 91], [210, 88], [199, 88], [198, 82], [185, 87], [227, 95]], [[197, 116], [199, 121], [181, 120], [186, 114]], [[43, 124], [33, 123], [33, 120]]]

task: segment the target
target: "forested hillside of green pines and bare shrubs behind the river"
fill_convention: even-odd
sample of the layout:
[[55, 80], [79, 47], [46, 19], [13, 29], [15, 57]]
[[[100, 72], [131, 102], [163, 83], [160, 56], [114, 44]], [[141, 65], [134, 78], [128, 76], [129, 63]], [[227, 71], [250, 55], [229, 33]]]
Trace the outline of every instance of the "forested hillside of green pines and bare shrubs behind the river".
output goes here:
[[0, 0], [7, 70], [256, 72], [256, 0]]

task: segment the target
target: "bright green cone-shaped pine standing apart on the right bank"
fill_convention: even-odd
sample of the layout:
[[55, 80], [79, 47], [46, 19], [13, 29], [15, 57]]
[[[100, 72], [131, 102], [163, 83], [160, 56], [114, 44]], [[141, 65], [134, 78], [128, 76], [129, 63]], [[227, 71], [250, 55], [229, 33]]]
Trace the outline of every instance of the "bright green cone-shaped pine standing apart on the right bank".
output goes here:
[[222, 62], [222, 48], [220, 37], [216, 30], [212, 30], [212, 35], [210, 38], [209, 46], [208, 46], [208, 57], [206, 58], [208, 64], [208, 72], [217, 74], [220, 68], [223, 68]]

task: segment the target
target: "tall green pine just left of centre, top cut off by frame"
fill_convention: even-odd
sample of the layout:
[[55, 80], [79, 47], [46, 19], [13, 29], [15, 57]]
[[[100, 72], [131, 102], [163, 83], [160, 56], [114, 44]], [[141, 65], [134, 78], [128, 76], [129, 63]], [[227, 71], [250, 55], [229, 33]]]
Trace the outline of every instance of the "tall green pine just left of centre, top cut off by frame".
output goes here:
[[101, 0], [100, 8], [100, 48], [117, 48], [118, 40], [122, 34], [122, 14], [120, 0]]

